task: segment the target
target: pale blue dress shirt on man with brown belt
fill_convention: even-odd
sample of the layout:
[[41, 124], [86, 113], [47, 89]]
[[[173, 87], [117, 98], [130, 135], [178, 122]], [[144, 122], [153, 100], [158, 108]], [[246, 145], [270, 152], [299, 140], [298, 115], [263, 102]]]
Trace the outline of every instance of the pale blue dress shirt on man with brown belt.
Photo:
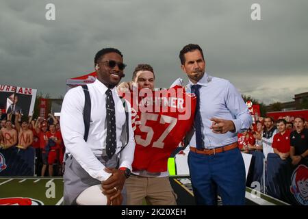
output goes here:
[[[201, 85], [200, 92], [200, 112], [202, 118], [202, 135], [205, 149], [213, 149], [238, 142], [238, 133], [251, 127], [253, 119], [244, 103], [241, 94], [226, 79], [211, 77], [205, 73], [198, 81]], [[189, 81], [188, 91], [194, 83]], [[235, 132], [214, 133], [210, 118], [223, 118], [232, 120]], [[190, 140], [190, 146], [196, 147], [196, 133]]]

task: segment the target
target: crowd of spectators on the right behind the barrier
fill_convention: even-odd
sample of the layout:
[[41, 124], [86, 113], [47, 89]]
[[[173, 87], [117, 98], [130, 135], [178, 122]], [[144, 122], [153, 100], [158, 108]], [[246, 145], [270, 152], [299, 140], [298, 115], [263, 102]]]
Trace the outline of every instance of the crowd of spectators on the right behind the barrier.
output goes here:
[[267, 159], [275, 153], [283, 160], [290, 159], [294, 166], [308, 163], [308, 123], [304, 118], [294, 120], [259, 117], [248, 131], [238, 134], [238, 145], [242, 153], [262, 151]]

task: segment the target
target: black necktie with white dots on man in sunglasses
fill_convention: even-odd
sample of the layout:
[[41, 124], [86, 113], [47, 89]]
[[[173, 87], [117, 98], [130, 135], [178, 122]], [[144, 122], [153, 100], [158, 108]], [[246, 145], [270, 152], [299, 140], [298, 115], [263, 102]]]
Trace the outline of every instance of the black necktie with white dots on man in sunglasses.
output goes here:
[[116, 153], [116, 114], [114, 111], [114, 99], [112, 98], [112, 91], [106, 91], [106, 121], [107, 121], [107, 139], [106, 139], [106, 153], [109, 159]]

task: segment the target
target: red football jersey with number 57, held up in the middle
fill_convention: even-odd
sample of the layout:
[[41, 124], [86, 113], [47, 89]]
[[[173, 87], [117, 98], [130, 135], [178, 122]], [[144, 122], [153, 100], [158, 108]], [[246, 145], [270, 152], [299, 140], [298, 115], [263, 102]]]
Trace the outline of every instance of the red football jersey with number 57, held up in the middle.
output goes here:
[[133, 170], [165, 172], [168, 157], [193, 125], [196, 96], [181, 86], [137, 95], [131, 93], [129, 100], [136, 141]]

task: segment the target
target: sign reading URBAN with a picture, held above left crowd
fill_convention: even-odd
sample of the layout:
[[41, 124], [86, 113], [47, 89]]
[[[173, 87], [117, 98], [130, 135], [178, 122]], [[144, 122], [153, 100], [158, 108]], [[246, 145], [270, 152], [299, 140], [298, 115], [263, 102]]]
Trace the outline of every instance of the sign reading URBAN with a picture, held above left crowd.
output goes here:
[[36, 89], [0, 85], [0, 110], [12, 114], [32, 116]]

